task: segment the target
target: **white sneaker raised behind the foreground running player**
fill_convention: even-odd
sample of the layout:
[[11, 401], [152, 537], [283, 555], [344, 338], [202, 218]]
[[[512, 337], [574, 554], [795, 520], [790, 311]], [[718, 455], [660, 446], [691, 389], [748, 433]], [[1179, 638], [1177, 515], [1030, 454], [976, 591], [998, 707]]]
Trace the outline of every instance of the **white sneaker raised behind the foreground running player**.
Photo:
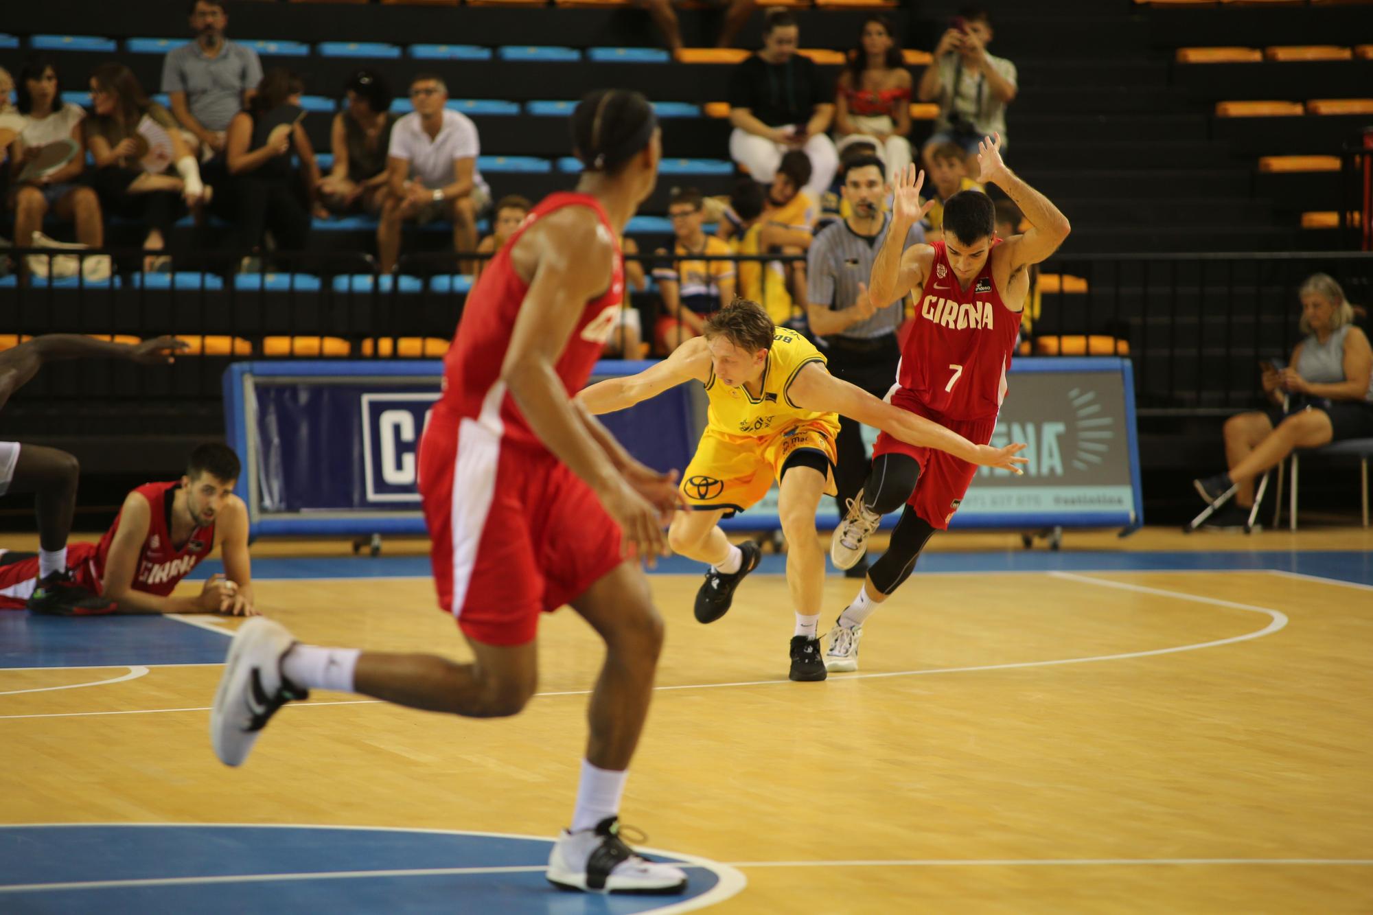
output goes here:
[[281, 655], [295, 639], [280, 622], [253, 617], [233, 633], [224, 676], [210, 709], [210, 741], [225, 765], [249, 758], [258, 734], [277, 709], [292, 699], [309, 698], [281, 676]]

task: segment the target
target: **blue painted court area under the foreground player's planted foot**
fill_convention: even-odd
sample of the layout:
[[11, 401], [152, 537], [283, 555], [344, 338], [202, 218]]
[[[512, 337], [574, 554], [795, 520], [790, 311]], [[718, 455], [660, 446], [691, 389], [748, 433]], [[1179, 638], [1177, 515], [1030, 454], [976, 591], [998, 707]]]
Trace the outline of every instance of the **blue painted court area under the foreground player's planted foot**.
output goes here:
[[654, 912], [724, 899], [736, 871], [686, 867], [681, 896], [564, 893], [544, 879], [551, 839], [309, 826], [0, 827], [5, 912]]

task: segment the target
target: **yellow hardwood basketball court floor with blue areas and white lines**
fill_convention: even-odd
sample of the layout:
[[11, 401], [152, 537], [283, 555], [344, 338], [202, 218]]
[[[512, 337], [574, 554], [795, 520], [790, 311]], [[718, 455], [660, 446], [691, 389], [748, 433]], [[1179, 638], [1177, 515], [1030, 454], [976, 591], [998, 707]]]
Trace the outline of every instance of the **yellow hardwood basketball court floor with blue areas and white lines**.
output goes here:
[[[0, 614], [0, 910], [1373, 908], [1373, 534], [935, 543], [825, 683], [787, 680], [781, 556], [710, 626], [692, 563], [654, 574], [623, 819], [685, 897], [544, 882], [600, 662], [570, 611], [515, 719], [316, 692], [242, 769], [207, 731], [238, 620]], [[261, 544], [258, 606], [306, 642], [463, 657], [422, 551]], [[855, 584], [827, 578], [827, 609]]]

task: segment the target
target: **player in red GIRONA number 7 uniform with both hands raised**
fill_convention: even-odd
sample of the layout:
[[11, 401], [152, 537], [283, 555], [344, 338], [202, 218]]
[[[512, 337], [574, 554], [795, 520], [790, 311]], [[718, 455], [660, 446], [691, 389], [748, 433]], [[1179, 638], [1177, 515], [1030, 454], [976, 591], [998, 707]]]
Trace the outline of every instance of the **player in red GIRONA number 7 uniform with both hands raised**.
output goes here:
[[[908, 291], [916, 294], [916, 317], [891, 403], [983, 444], [991, 441], [1006, 396], [1006, 370], [1030, 282], [1027, 268], [1053, 254], [1071, 227], [1048, 198], [1001, 161], [1000, 136], [979, 143], [978, 162], [978, 181], [1005, 191], [1030, 228], [997, 238], [991, 198], [960, 191], [945, 203], [945, 239], [902, 251], [906, 229], [931, 206], [920, 203], [924, 173], [917, 176], [910, 166], [895, 181], [891, 231], [873, 261], [869, 297], [890, 302]], [[868, 481], [831, 540], [833, 563], [840, 569], [857, 563], [881, 515], [902, 504], [905, 508], [887, 552], [872, 563], [858, 596], [829, 632], [829, 670], [858, 669], [862, 621], [910, 576], [931, 534], [947, 530], [976, 470], [953, 455], [908, 445], [886, 433], [877, 437]]]

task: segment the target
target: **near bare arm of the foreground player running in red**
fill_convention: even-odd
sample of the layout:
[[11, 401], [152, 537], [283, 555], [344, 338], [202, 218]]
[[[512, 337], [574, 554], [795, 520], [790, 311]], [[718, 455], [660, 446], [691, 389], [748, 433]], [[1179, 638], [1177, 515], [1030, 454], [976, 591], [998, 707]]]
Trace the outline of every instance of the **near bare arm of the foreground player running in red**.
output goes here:
[[555, 371], [586, 302], [610, 286], [614, 240], [596, 214], [581, 206], [555, 212], [530, 227], [511, 251], [530, 276], [501, 365], [501, 381], [530, 429], [553, 456], [582, 478], [625, 529], [638, 555], [665, 551], [667, 518], [615, 470], [578, 419]]

